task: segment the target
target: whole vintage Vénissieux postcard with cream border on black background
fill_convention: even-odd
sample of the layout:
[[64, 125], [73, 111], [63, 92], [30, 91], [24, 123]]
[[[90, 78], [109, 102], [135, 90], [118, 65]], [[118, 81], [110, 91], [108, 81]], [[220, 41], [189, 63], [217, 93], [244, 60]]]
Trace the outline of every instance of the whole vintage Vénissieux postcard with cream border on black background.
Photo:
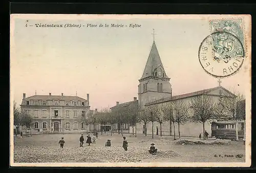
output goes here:
[[250, 15], [10, 21], [11, 166], [251, 165]]

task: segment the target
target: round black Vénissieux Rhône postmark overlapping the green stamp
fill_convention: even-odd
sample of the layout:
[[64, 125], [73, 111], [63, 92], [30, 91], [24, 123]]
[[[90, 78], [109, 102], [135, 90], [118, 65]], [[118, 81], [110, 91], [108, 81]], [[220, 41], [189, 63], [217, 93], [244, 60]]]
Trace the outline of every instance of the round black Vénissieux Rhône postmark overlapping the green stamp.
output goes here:
[[236, 36], [228, 32], [215, 32], [202, 41], [198, 56], [205, 72], [223, 78], [241, 68], [245, 52], [242, 42]]

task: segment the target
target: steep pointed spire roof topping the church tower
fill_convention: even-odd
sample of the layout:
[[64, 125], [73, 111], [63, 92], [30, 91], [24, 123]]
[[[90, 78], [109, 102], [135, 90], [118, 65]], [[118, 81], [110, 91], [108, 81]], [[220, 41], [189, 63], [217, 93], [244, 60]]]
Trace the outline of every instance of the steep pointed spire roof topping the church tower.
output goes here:
[[[159, 53], [157, 51], [156, 43], [155, 43], [155, 41], [153, 41], [153, 45], [151, 47], [150, 55], [147, 58], [146, 66], [145, 66], [145, 69], [144, 69], [144, 72], [143, 72], [143, 75], [142, 75], [141, 79], [145, 78], [145, 77], [148, 77], [148, 76], [153, 76], [153, 73], [154, 73], [155, 69], [158, 68], [159, 66], [161, 66], [162, 69], [163, 69], [163, 64], [162, 64], [162, 61], [160, 59]], [[164, 69], [163, 69], [163, 72], [165, 74], [165, 77], [167, 77]]]

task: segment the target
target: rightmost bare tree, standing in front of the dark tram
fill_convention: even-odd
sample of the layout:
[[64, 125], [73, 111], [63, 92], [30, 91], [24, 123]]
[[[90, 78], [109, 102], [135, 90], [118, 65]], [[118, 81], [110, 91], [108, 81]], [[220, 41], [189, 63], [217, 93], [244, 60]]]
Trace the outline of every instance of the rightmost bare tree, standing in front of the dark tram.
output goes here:
[[243, 114], [243, 111], [239, 111], [238, 107], [241, 107], [239, 104], [244, 100], [244, 96], [235, 90], [232, 91], [232, 94], [225, 92], [221, 95], [219, 102], [223, 107], [224, 114], [236, 122], [236, 140], [239, 140], [238, 121], [243, 118], [245, 119], [245, 112]]

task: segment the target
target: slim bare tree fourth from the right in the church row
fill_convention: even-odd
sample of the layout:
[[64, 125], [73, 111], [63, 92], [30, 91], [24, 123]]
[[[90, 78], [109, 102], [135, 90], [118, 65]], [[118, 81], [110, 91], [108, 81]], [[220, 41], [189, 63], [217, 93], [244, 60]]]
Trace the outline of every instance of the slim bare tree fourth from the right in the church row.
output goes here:
[[[164, 119], [166, 121], [169, 121], [170, 123], [170, 136], [172, 136], [172, 122], [174, 123], [174, 117], [173, 117], [173, 105], [171, 102], [165, 102], [161, 106], [161, 110], [163, 112]], [[174, 125], [175, 127], [175, 125]], [[174, 128], [174, 139], [175, 139], [175, 128]]]

